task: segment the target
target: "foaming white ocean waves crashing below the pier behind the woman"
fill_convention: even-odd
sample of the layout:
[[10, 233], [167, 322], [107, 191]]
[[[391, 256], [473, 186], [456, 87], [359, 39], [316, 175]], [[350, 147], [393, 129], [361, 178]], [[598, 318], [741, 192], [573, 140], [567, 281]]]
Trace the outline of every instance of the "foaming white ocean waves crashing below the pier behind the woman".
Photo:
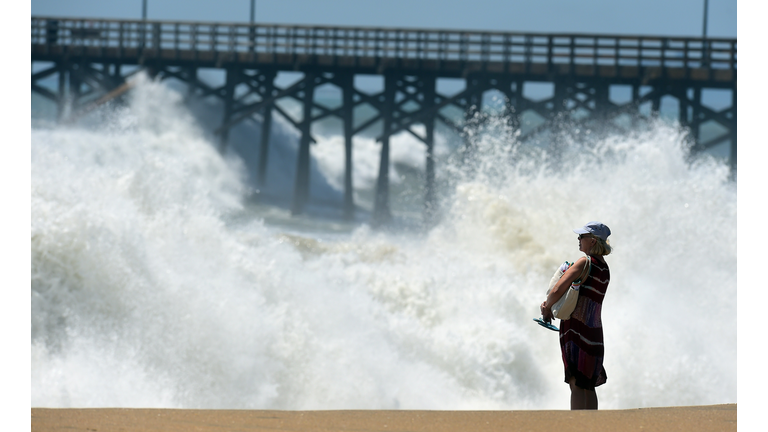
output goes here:
[[439, 134], [429, 227], [424, 149], [398, 135], [395, 221], [374, 229], [375, 140], [355, 140], [356, 220], [323, 205], [343, 194], [332, 132], [291, 217], [254, 197], [290, 194], [296, 134], [278, 121], [256, 192], [210, 117], [144, 80], [83, 124], [33, 122], [33, 407], [567, 409], [557, 334], [532, 318], [590, 220], [615, 248], [601, 408], [736, 402], [736, 185], [674, 124], [547, 153], [491, 118], [464, 158]]

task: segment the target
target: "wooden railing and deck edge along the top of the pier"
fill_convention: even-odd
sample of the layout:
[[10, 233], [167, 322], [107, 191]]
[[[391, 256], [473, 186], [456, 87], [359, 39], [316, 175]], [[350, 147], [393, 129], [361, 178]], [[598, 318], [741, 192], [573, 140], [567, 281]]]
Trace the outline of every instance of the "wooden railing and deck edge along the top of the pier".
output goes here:
[[498, 72], [515, 72], [514, 66], [521, 64], [547, 70], [660, 67], [712, 69], [711, 78], [723, 81], [735, 80], [736, 71], [736, 39], [692, 37], [32, 17], [32, 47], [33, 55], [66, 51], [129, 61], [140, 57], [365, 66], [399, 59], [418, 68], [475, 63]]

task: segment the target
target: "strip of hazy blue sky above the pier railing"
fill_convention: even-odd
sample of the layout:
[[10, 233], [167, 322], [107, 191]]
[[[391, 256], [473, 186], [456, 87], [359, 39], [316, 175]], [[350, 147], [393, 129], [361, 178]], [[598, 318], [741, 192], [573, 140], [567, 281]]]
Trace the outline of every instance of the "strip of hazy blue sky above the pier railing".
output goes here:
[[[252, 0], [32, 0], [32, 15], [249, 22]], [[269, 24], [736, 37], [736, 0], [253, 0]]]

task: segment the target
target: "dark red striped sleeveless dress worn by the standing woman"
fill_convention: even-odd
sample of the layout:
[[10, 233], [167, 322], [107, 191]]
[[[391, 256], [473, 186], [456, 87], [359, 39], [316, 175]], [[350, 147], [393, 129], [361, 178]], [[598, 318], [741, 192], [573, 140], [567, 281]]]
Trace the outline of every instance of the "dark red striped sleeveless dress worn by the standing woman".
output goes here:
[[607, 264], [594, 257], [592, 269], [579, 289], [579, 300], [571, 318], [560, 321], [560, 351], [563, 354], [565, 382], [576, 378], [576, 385], [594, 390], [605, 384], [603, 369], [603, 323], [600, 311], [611, 273]]

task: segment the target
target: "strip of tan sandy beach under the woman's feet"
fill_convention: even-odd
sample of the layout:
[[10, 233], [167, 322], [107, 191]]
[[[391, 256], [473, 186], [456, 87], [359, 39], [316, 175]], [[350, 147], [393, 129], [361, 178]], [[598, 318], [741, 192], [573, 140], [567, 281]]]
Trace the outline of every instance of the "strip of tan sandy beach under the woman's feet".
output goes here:
[[735, 431], [736, 404], [604, 411], [260, 411], [32, 408], [32, 432]]

